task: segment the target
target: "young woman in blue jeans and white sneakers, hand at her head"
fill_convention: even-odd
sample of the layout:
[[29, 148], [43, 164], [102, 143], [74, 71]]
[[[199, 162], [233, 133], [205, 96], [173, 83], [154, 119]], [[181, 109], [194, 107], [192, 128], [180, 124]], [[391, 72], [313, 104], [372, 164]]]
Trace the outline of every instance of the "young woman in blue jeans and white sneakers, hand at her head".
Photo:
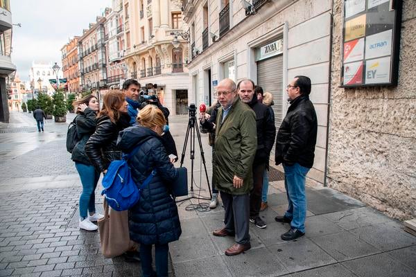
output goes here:
[[98, 226], [92, 222], [104, 217], [96, 213], [95, 209], [95, 190], [100, 172], [94, 168], [85, 154], [85, 143], [94, 134], [96, 129], [96, 116], [100, 109], [100, 104], [92, 94], [73, 103], [76, 110], [76, 132], [79, 142], [72, 150], [71, 159], [75, 162], [76, 170], [80, 175], [83, 192], [80, 195], [80, 229], [95, 231]]

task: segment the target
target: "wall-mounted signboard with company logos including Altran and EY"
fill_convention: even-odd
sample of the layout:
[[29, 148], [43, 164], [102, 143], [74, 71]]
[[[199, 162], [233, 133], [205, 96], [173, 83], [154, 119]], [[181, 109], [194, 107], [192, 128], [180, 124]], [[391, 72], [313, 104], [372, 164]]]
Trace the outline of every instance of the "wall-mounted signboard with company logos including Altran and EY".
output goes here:
[[341, 87], [396, 85], [402, 0], [344, 0]]

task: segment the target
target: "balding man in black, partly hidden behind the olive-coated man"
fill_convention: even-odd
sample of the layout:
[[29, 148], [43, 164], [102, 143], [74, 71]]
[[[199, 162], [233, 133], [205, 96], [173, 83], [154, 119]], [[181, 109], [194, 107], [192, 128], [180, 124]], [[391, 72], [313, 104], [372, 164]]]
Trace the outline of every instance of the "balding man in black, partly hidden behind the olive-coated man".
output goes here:
[[266, 105], [257, 100], [254, 93], [254, 82], [244, 79], [237, 84], [241, 101], [249, 105], [256, 114], [257, 151], [252, 166], [254, 188], [250, 192], [250, 222], [257, 227], [266, 228], [266, 222], [260, 217], [261, 192], [263, 188], [263, 174], [270, 157], [273, 143], [275, 143], [276, 127]]

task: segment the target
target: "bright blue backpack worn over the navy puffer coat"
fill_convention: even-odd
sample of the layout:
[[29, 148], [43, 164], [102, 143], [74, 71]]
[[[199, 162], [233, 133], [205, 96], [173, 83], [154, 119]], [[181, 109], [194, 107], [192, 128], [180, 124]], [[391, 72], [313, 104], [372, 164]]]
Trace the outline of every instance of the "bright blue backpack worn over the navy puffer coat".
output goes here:
[[130, 152], [130, 154], [123, 154], [123, 159], [112, 161], [103, 177], [103, 191], [107, 199], [107, 203], [116, 211], [125, 211], [132, 206], [135, 206], [140, 199], [140, 191], [146, 187], [153, 176], [156, 175], [156, 170], [153, 170], [146, 180], [137, 187], [137, 184], [132, 178], [128, 160], [139, 151], [141, 144]]

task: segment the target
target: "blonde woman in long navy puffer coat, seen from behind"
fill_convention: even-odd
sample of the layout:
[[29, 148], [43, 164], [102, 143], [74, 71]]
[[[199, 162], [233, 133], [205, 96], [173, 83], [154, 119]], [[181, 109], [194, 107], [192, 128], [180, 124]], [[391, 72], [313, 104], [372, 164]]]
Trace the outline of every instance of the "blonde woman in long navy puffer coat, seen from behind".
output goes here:
[[[170, 195], [177, 170], [166, 154], [162, 133], [166, 120], [160, 109], [147, 105], [137, 117], [139, 125], [120, 132], [117, 147], [129, 153], [137, 145], [139, 151], [130, 158], [132, 177], [138, 186], [156, 170], [150, 184], [141, 190], [139, 202], [129, 211], [130, 240], [140, 243], [141, 269], [144, 277], [168, 276], [168, 243], [178, 240], [179, 216]], [[156, 272], [152, 268], [152, 246], [155, 245]]]

